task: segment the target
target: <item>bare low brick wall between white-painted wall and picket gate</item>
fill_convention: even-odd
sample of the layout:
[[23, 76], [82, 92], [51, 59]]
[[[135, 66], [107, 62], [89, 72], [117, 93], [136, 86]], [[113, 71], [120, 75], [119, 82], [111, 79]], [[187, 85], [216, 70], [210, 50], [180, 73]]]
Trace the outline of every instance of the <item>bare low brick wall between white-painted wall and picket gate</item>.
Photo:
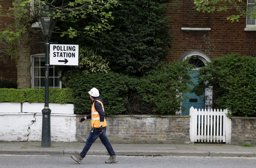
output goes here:
[[[79, 119], [81, 116], [77, 116]], [[117, 115], [106, 117], [111, 143], [189, 144], [190, 116]], [[77, 141], [84, 142], [91, 120], [76, 124]], [[99, 139], [96, 142], [100, 142]]]

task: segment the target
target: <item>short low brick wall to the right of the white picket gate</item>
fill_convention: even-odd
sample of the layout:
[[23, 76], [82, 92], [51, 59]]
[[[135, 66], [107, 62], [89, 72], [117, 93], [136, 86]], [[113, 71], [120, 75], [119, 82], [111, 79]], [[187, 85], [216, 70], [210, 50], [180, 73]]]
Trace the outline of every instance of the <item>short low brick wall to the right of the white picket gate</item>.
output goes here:
[[231, 144], [250, 143], [256, 145], [256, 117], [231, 117]]

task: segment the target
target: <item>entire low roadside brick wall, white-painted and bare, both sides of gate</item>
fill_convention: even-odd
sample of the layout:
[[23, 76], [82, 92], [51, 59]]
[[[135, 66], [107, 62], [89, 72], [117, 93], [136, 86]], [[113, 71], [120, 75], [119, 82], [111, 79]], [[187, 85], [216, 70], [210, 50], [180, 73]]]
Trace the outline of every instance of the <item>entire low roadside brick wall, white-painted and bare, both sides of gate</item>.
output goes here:
[[[52, 142], [85, 142], [91, 120], [78, 123], [77, 120], [81, 117], [83, 116], [52, 113]], [[15, 118], [17, 122], [13, 124], [12, 120]], [[107, 136], [111, 143], [189, 144], [189, 119], [190, 116], [157, 115], [106, 117]], [[256, 117], [232, 117], [231, 120], [231, 144], [248, 142], [256, 145]], [[0, 121], [5, 121], [0, 122], [0, 142], [41, 141], [42, 113], [1, 111]], [[96, 143], [101, 143], [100, 139]]]

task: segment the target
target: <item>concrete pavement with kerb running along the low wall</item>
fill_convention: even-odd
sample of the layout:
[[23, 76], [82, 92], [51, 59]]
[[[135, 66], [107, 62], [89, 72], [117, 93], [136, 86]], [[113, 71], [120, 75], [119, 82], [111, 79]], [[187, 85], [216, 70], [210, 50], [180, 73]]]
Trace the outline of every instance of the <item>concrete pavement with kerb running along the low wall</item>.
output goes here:
[[[51, 148], [41, 148], [41, 142], [0, 142], [0, 155], [70, 156], [79, 153], [85, 143], [52, 142]], [[211, 156], [256, 157], [256, 147], [225, 144], [112, 144], [120, 156]], [[100, 143], [92, 144], [87, 155], [108, 155]]]

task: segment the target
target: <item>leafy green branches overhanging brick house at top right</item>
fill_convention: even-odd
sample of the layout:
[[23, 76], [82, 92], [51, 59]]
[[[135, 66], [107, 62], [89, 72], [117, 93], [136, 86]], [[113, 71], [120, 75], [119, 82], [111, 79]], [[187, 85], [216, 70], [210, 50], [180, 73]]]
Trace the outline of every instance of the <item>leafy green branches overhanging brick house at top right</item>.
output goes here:
[[[252, 3], [255, 3], [252, 1]], [[202, 12], [222, 12], [222, 11], [229, 11], [232, 9], [236, 9], [237, 15], [230, 15], [227, 16], [228, 20], [231, 22], [238, 22], [240, 17], [246, 17], [249, 15], [251, 18], [256, 18], [256, 9], [253, 5], [247, 6], [247, 1], [233, 1], [233, 0], [194, 0], [194, 4], [196, 5], [197, 11]], [[246, 8], [246, 6], [248, 8]]]

